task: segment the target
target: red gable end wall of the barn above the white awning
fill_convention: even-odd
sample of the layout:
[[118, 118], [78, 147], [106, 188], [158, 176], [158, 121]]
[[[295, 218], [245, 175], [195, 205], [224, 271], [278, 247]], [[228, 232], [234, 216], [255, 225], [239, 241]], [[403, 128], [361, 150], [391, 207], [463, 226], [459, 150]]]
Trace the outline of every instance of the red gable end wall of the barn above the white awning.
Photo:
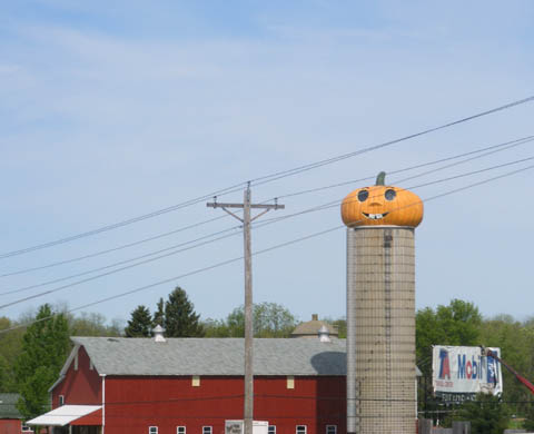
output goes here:
[[80, 347], [78, 369], [75, 369], [72, 359], [66, 377], [52, 391], [52, 408], [59, 406], [59, 395], [65, 396], [65, 404], [100, 405], [102, 403], [102, 381], [96, 369], [90, 369], [86, 349]]

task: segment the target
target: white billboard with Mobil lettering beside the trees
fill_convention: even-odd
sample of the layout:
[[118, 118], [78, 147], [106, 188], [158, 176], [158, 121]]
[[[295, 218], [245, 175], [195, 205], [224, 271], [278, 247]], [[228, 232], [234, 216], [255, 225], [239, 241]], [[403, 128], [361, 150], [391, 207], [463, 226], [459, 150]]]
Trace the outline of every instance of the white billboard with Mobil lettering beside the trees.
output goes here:
[[[483, 356], [481, 347], [435, 345], [432, 349], [432, 385], [437, 397], [463, 402], [479, 392], [503, 392], [501, 364]], [[500, 348], [490, 349], [501, 357]]]

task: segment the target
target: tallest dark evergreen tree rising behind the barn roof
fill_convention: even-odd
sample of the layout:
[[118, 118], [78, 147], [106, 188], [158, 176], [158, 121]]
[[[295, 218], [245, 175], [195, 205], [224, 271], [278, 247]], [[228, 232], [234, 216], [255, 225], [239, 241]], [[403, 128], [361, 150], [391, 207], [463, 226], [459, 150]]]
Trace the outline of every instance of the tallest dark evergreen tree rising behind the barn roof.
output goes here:
[[[179, 286], [169, 294], [165, 303], [164, 328], [168, 337], [202, 337], [205, 331], [187, 294]], [[159, 308], [159, 306], [158, 306]]]

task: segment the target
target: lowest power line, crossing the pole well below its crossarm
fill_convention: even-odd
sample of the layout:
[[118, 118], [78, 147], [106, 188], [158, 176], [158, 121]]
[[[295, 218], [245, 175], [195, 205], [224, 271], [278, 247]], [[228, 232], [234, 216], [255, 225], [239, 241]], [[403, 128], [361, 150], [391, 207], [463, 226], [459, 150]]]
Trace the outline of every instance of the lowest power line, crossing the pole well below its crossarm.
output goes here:
[[[534, 165], [523, 167], [521, 169], [516, 169], [516, 170], [513, 170], [513, 171], [510, 171], [510, 172], [506, 172], [506, 174], [503, 174], [503, 175], [498, 175], [498, 176], [495, 176], [495, 177], [492, 177], [492, 178], [486, 178], [484, 180], [469, 184], [467, 186], [463, 186], [463, 187], [459, 187], [459, 188], [456, 188], [456, 189], [453, 189], [453, 190], [448, 190], [448, 191], [445, 191], [445, 193], [442, 193], [442, 194], [438, 194], [438, 195], [435, 195], [435, 196], [431, 196], [426, 199], [423, 199], [422, 201], [427, 203], [427, 201], [431, 201], [431, 200], [435, 200], [435, 199], [438, 199], [438, 198], [442, 198], [442, 197], [445, 197], [445, 196], [449, 196], [449, 195], [453, 195], [453, 194], [456, 194], [456, 193], [459, 193], [459, 191], [467, 190], [469, 188], [474, 188], [474, 187], [477, 187], [477, 186], [481, 186], [481, 185], [484, 185], [484, 184], [495, 181], [497, 179], [503, 179], [503, 178], [506, 178], [506, 177], [510, 177], [510, 176], [513, 176], [513, 175], [516, 175], [516, 174], [520, 174], [520, 172], [523, 172], [523, 171], [526, 171], [526, 170], [530, 170], [530, 169], [533, 169], [533, 168], [534, 168]], [[407, 208], [409, 206], [413, 206], [413, 205], [407, 205], [405, 207], [398, 208], [397, 210]], [[279, 249], [279, 248], [283, 248], [283, 247], [287, 247], [287, 246], [290, 246], [290, 245], [294, 245], [294, 244], [297, 244], [297, 243], [305, 241], [307, 239], [316, 238], [318, 236], [326, 235], [326, 234], [333, 233], [333, 231], [342, 229], [342, 228], [345, 228], [345, 225], [335, 226], [335, 227], [324, 229], [324, 230], [320, 230], [320, 231], [317, 231], [317, 233], [314, 233], [314, 234], [309, 234], [309, 235], [306, 235], [306, 236], [303, 236], [303, 237], [299, 237], [299, 238], [295, 238], [295, 239], [291, 239], [291, 240], [288, 240], [288, 241], [285, 241], [285, 243], [281, 243], [281, 244], [278, 244], [278, 245], [275, 245], [275, 246], [271, 246], [271, 247], [258, 250], [258, 251], [255, 251], [255, 253], [253, 253], [253, 255], [254, 256], [261, 255], [261, 254], [265, 254], [265, 253], [268, 253], [268, 251], [273, 251], [273, 250], [276, 250], [276, 249]], [[243, 256], [226, 259], [226, 260], [222, 260], [222, 262], [219, 262], [219, 263], [216, 263], [216, 264], [202, 267], [202, 268], [197, 268], [192, 272], [188, 272], [188, 273], [185, 273], [185, 274], [181, 274], [181, 275], [178, 275], [178, 276], [174, 276], [174, 277], [170, 277], [170, 278], [158, 280], [158, 282], [155, 282], [152, 284], [144, 285], [144, 286], [140, 286], [140, 287], [137, 287], [137, 288], [134, 288], [134, 289], [129, 289], [129, 290], [126, 290], [126, 292], [120, 293], [120, 294], [116, 294], [116, 295], [112, 295], [112, 296], [109, 296], [109, 297], [106, 297], [106, 298], [98, 299], [96, 302], [87, 303], [85, 305], [68, 309], [68, 310], [66, 310], [61, 314], [70, 314], [70, 313], [77, 312], [77, 310], [81, 310], [81, 309], [85, 309], [85, 308], [88, 308], [88, 307], [92, 307], [92, 306], [96, 306], [96, 305], [99, 305], [99, 304], [102, 304], [102, 303], [110, 302], [110, 300], [113, 300], [113, 299], [122, 298], [122, 297], [126, 297], [126, 296], [131, 295], [131, 294], [136, 294], [136, 293], [140, 293], [142, 290], [146, 290], [146, 289], [154, 288], [156, 286], [161, 286], [161, 285], [172, 283], [172, 282], [176, 282], [176, 280], [185, 278], [185, 277], [194, 276], [194, 275], [205, 273], [205, 272], [208, 272], [208, 270], [211, 270], [211, 269], [215, 269], [215, 268], [219, 268], [219, 267], [236, 263], [236, 262], [241, 260], [241, 259], [243, 259]], [[3, 331], [0, 331], [0, 335], [9, 333], [9, 332], [18, 329], [18, 328], [28, 327], [29, 325], [32, 325], [32, 324], [36, 324], [36, 323], [40, 323], [40, 322], [43, 322], [43, 320], [51, 319], [51, 318], [53, 318], [58, 315], [60, 315], [60, 314], [49, 315], [47, 317], [39, 318], [39, 319], [33, 320], [33, 322], [29, 322], [29, 323], [26, 323], [26, 324], [20, 324], [20, 325], [13, 326], [13, 327], [4, 328]]]

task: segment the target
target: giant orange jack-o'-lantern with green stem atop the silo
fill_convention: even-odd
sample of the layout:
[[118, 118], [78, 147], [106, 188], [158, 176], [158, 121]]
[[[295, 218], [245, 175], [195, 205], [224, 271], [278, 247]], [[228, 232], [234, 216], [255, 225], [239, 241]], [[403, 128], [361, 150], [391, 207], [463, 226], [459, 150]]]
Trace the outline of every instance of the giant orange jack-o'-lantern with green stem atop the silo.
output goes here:
[[423, 220], [423, 201], [403, 188], [386, 186], [380, 171], [376, 185], [350, 193], [342, 203], [342, 218], [353, 226], [409, 226]]

